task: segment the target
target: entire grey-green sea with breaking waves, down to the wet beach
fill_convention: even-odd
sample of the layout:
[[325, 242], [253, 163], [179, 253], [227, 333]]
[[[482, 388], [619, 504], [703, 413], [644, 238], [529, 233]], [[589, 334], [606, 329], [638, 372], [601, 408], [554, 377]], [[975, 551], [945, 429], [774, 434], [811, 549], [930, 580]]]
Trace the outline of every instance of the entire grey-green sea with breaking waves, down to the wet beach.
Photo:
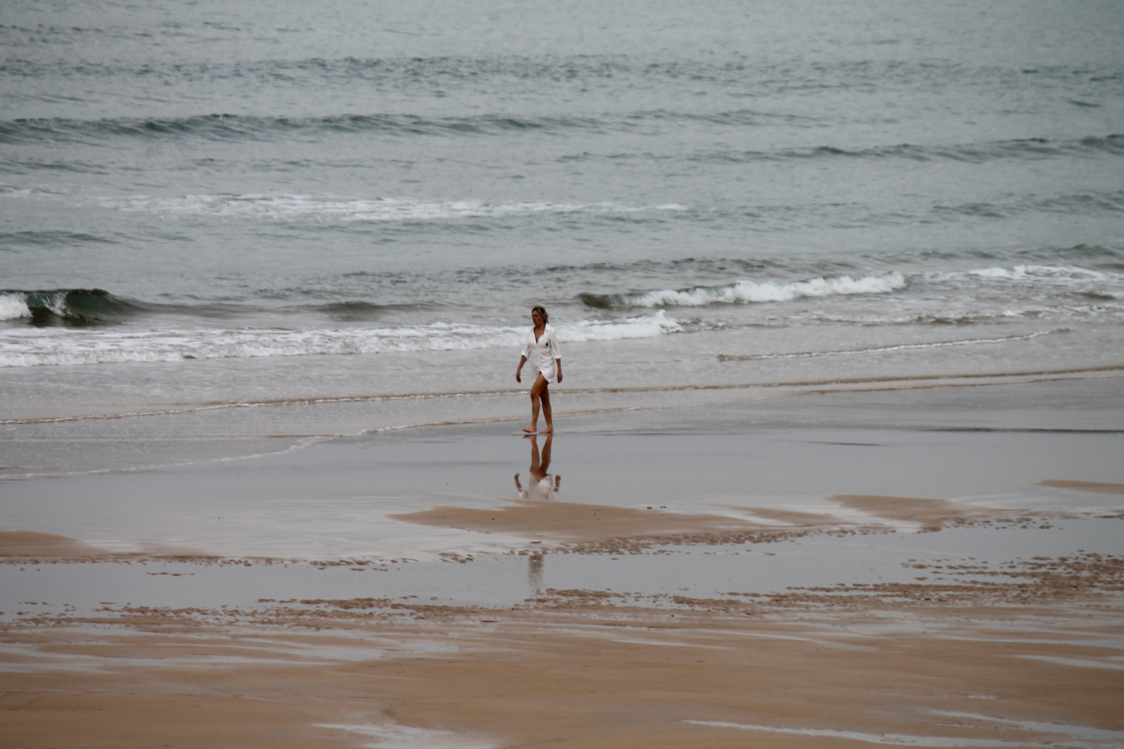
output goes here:
[[0, 464], [515, 418], [536, 303], [560, 413], [1113, 372], [1122, 38], [1095, 0], [4, 2]]

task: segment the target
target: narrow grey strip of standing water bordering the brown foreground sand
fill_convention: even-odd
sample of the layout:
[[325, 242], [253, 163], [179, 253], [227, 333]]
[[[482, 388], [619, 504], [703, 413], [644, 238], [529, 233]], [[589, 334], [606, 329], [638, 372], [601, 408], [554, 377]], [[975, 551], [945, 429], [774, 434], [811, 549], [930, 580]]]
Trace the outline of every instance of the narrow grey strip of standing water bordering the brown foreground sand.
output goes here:
[[[0, 621], [112, 615], [123, 608], [252, 611], [361, 599], [382, 605], [507, 608], [559, 591], [610, 594], [615, 603], [674, 605], [676, 596], [725, 599], [800, 591], [877, 596], [892, 595], [890, 586], [901, 591], [922, 585], [982, 590], [995, 583], [1034, 582], [1035, 575], [1049, 573], [1062, 558], [1071, 566], [1111, 561], [1120, 552], [1122, 530], [1124, 519], [1054, 520], [1032, 527], [653, 547], [641, 554], [524, 550], [481, 555], [465, 564], [400, 561], [384, 567], [205, 560], [8, 563], [0, 565]], [[1089, 577], [1087, 569], [1077, 572]], [[1089, 583], [1095, 590], [1096, 581]]]

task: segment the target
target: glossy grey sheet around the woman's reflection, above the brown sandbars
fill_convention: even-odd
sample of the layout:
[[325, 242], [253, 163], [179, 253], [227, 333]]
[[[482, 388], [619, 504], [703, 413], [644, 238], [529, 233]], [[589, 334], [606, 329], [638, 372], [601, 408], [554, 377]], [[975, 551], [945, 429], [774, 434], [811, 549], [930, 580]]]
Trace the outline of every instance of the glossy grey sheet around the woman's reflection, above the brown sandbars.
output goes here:
[[[1111, 513], [1120, 509], [1116, 495], [1037, 482], [1124, 483], [1121, 413], [1107, 405], [1124, 402], [1122, 382], [835, 393], [572, 417], [559, 421], [549, 473], [561, 479], [561, 502], [720, 514], [778, 529], [799, 528], [799, 518], [825, 528], [922, 527], [830, 499], [836, 494], [951, 500], [996, 518], [1012, 510]], [[274, 449], [302, 444], [275, 441]], [[540, 437], [541, 457], [546, 447]], [[241, 460], [25, 478], [3, 484], [4, 530], [60, 533], [117, 552], [165, 547], [234, 558], [506, 550], [522, 540], [389, 515], [501, 506], [519, 496], [514, 477], [526, 483], [532, 459], [518, 422], [483, 423], [321, 440]], [[805, 514], [774, 521], [771, 511]]]

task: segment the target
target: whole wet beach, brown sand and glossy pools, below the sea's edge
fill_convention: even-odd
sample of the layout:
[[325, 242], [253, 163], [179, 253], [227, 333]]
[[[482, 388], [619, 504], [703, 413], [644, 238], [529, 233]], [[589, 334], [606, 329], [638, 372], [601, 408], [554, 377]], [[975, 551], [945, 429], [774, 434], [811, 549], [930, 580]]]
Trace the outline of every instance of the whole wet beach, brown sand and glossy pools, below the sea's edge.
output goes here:
[[9, 479], [3, 745], [1122, 746], [1122, 382]]

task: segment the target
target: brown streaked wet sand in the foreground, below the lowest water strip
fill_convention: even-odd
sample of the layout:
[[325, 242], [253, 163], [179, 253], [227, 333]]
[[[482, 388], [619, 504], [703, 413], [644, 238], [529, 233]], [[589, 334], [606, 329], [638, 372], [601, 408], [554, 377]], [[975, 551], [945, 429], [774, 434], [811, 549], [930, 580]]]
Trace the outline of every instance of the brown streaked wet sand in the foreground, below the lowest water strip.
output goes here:
[[830, 613], [590, 592], [135, 611], [8, 629], [3, 727], [21, 747], [1120, 746], [1120, 609], [1055, 587]]

